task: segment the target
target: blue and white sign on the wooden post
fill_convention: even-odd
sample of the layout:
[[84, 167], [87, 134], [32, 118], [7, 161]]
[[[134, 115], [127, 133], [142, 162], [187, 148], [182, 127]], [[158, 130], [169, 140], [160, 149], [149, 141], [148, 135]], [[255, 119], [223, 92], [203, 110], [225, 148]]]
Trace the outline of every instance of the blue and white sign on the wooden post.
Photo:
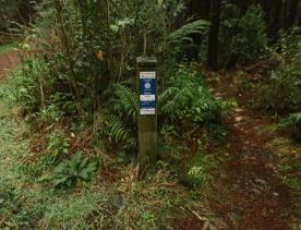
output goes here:
[[156, 114], [156, 72], [140, 72], [140, 114]]

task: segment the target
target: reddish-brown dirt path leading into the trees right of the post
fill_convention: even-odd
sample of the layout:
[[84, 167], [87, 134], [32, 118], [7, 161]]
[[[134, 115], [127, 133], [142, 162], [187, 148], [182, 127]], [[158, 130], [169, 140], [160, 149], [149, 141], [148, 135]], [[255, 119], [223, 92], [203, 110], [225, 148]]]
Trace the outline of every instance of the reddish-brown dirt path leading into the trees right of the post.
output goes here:
[[225, 122], [229, 130], [224, 149], [227, 160], [224, 177], [215, 182], [212, 209], [229, 229], [290, 229], [296, 221], [294, 202], [276, 173], [277, 157], [265, 148], [277, 135], [263, 131], [273, 121], [244, 106], [250, 95], [231, 77], [225, 77], [213, 92], [220, 98], [234, 98], [238, 108]]

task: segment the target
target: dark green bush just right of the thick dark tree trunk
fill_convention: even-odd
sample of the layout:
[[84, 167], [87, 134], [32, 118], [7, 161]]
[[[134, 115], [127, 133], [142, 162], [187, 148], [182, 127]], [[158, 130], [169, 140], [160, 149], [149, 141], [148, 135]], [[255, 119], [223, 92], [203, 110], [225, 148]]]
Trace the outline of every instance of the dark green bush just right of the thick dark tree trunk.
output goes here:
[[[267, 50], [266, 26], [260, 7], [251, 7], [243, 16], [232, 4], [226, 4], [221, 22], [220, 47], [226, 61], [256, 61]], [[228, 14], [228, 15], [227, 15]], [[230, 51], [230, 52], [229, 52]]]

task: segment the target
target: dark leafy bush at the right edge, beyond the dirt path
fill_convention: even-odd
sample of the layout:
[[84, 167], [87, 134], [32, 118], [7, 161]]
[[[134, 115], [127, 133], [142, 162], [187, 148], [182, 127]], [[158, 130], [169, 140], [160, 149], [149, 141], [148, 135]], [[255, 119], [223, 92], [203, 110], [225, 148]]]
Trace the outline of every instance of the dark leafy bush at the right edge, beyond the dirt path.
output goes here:
[[278, 113], [301, 110], [301, 36], [296, 28], [281, 33], [274, 47], [278, 68], [258, 92], [258, 105]]

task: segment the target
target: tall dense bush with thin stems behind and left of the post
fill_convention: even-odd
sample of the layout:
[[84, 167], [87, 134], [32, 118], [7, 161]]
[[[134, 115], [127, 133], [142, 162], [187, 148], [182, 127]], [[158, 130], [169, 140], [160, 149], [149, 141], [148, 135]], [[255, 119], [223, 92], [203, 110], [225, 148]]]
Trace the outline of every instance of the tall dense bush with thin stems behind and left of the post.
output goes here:
[[21, 47], [20, 101], [31, 112], [58, 108], [92, 120], [110, 87], [133, 78], [137, 56], [165, 59], [168, 77], [177, 47], [208, 27], [201, 20], [174, 29], [183, 9], [181, 1], [44, 1]]

